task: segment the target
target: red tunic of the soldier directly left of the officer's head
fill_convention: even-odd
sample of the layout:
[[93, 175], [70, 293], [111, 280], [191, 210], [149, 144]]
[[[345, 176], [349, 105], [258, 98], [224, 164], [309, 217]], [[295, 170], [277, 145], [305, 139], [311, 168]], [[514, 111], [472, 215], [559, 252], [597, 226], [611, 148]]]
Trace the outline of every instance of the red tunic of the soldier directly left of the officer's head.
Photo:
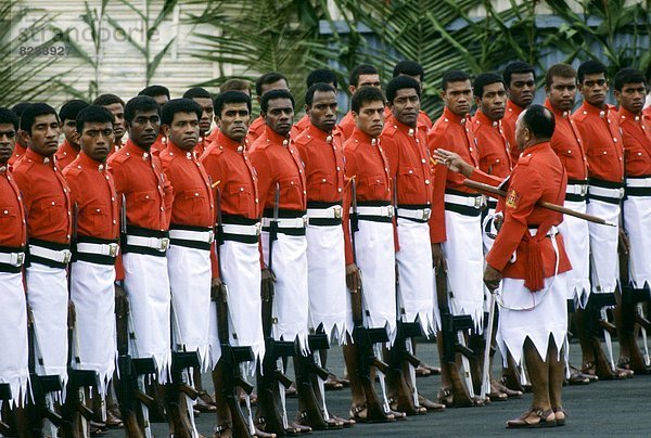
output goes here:
[[477, 111], [472, 117], [472, 127], [477, 139], [480, 169], [488, 175], [506, 178], [511, 173], [511, 146], [507, 140], [501, 120], [493, 121]]

